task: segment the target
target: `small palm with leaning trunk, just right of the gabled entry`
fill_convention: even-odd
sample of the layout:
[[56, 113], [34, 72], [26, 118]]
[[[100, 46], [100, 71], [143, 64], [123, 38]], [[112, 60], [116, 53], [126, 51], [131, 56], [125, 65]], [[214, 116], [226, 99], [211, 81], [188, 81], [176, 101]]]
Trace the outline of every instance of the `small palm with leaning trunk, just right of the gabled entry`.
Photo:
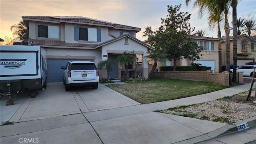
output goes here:
[[163, 52], [163, 50], [160, 50], [159, 48], [154, 48], [153, 50], [148, 51], [148, 55], [144, 56], [144, 58], [148, 58], [148, 62], [149, 61], [153, 61], [153, 68], [149, 73], [148, 79], [150, 78], [150, 76], [152, 76], [153, 72], [156, 70], [157, 67], [157, 62], [163, 62], [165, 60], [167, 60], [166, 54], [165, 52]]

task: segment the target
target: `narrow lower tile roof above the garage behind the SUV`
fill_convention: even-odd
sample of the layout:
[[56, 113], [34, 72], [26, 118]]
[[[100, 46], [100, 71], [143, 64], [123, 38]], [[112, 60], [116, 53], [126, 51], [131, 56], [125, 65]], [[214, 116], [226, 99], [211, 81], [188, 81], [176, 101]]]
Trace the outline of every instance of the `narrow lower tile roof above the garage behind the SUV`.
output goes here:
[[80, 44], [80, 43], [68, 43], [61, 40], [28, 40], [28, 42], [33, 42], [34, 45], [40, 46], [67, 46], [67, 47], [83, 47], [83, 48], [94, 48], [98, 44]]

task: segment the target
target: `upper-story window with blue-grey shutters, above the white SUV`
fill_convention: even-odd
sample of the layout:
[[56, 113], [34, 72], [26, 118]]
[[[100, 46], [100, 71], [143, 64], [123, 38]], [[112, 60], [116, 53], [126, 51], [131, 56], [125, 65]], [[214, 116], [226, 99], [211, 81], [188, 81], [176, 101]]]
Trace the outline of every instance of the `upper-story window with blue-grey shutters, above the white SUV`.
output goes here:
[[99, 28], [74, 27], [75, 40], [88, 42], [101, 42], [101, 33]]

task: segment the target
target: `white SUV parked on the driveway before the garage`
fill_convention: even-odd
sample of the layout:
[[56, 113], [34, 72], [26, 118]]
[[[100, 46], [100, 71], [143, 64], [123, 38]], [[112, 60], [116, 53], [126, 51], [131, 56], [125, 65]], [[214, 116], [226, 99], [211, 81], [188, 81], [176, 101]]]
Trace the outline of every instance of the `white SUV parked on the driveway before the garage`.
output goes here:
[[63, 84], [65, 90], [69, 91], [71, 86], [92, 86], [98, 88], [99, 71], [94, 62], [69, 61], [63, 71]]

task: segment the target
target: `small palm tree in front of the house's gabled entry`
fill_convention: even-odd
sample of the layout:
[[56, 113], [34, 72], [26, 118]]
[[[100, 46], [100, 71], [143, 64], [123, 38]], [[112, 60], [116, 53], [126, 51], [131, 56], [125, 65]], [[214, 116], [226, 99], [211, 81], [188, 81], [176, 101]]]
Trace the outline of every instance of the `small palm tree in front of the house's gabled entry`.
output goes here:
[[127, 78], [129, 78], [128, 65], [133, 64], [135, 60], [136, 54], [134, 54], [134, 52], [124, 52], [123, 54], [118, 55], [116, 58], [116, 62], [124, 65]]

